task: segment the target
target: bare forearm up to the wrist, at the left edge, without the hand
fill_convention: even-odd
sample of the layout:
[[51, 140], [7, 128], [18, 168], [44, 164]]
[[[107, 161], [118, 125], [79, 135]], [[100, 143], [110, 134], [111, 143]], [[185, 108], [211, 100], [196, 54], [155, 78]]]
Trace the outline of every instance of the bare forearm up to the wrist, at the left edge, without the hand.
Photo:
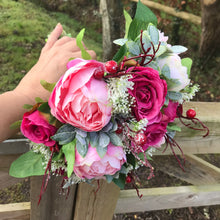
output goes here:
[[11, 129], [10, 125], [22, 119], [25, 110], [24, 104], [34, 104], [27, 96], [9, 91], [0, 95], [0, 142], [15, 134], [18, 130]]

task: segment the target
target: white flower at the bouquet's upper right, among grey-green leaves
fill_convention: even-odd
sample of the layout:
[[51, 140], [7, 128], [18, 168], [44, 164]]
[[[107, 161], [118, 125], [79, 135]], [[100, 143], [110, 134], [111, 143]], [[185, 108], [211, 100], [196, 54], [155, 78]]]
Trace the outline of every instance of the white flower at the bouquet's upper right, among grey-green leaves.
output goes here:
[[188, 78], [187, 67], [181, 64], [181, 59], [177, 54], [172, 53], [166, 57], [158, 58], [157, 61], [160, 69], [167, 65], [170, 69], [170, 78], [179, 81], [179, 84], [169, 89], [170, 91], [179, 92], [189, 85], [190, 79]]

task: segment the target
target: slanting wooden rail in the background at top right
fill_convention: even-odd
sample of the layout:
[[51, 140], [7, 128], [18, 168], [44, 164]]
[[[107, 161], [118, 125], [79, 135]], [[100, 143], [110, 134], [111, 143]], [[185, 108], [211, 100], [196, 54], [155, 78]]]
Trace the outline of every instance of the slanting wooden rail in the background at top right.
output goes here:
[[[132, 1], [138, 2], [139, 0], [132, 0]], [[187, 12], [178, 12], [175, 10], [175, 8], [171, 8], [171, 7], [168, 7], [168, 6], [165, 6], [160, 3], [150, 1], [150, 0], [141, 0], [141, 2], [150, 8], [160, 10], [167, 14], [173, 15], [175, 17], [182, 18], [191, 23], [201, 25], [201, 17], [199, 16], [196, 16], [196, 15], [193, 15]]]

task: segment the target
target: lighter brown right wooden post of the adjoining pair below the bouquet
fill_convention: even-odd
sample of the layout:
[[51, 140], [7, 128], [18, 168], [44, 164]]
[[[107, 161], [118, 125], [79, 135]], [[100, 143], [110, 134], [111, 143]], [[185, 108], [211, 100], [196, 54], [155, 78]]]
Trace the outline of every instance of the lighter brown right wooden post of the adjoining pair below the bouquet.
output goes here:
[[105, 180], [79, 184], [74, 220], [112, 220], [120, 189]]

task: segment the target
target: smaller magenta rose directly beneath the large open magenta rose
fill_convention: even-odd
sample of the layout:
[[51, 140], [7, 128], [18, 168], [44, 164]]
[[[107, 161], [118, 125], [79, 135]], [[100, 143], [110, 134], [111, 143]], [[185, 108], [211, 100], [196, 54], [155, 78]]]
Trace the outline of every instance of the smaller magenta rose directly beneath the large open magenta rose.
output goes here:
[[147, 142], [142, 146], [142, 149], [146, 151], [149, 146], [151, 147], [160, 147], [161, 144], [164, 144], [165, 138], [164, 135], [167, 132], [167, 123], [154, 123], [147, 126], [144, 134], [147, 137]]

